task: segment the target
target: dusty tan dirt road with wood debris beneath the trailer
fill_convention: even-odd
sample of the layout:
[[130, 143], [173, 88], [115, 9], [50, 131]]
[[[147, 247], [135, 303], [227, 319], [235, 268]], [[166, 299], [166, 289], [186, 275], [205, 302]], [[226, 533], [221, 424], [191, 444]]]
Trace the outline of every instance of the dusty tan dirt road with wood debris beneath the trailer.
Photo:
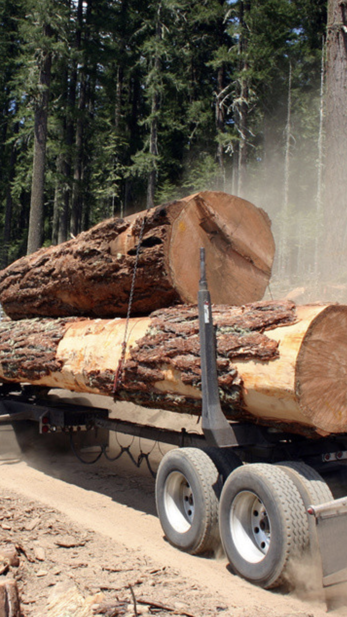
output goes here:
[[[100, 399], [94, 404], [100, 405]], [[129, 408], [118, 406], [117, 411], [126, 417]], [[131, 413], [138, 420], [141, 412], [131, 409]], [[150, 413], [151, 423], [160, 418], [168, 425], [168, 417]], [[191, 422], [195, 426], [196, 420]], [[117, 597], [117, 601], [125, 601], [125, 612], [114, 609], [107, 613], [104, 608], [102, 613], [97, 596], [101, 604], [94, 598], [86, 615], [327, 614], [322, 592], [302, 564], [296, 571], [305, 581], [305, 589], [298, 597], [297, 592], [269, 592], [242, 581], [227, 569], [223, 555], [206, 559], [173, 549], [163, 539], [155, 512], [154, 480], [147, 468], [137, 469], [126, 455], [116, 463], [100, 458], [94, 465], [83, 465], [71, 452], [56, 449], [51, 437], [44, 442], [44, 436], [38, 436], [24, 454], [12, 448], [12, 437], [9, 431], [0, 433], [0, 539], [23, 549], [22, 566], [14, 573], [23, 616], [55, 617], [52, 597], [59, 590], [66, 594], [67, 584], [84, 597], [101, 591], [104, 600], [116, 602]], [[110, 453], [118, 447], [114, 436], [112, 439]], [[126, 445], [131, 439], [121, 436], [119, 441]], [[152, 445], [142, 443], [142, 449]], [[136, 443], [133, 449], [136, 453]], [[160, 457], [155, 446], [150, 458], [154, 468]], [[59, 546], [60, 537], [73, 541]], [[129, 586], [139, 601], [135, 607]], [[340, 608], [334, 613], [347, 615], [347, 610]], [[72, 603], [69, 610], [58, 613], [58, 617], [74, 615]]]

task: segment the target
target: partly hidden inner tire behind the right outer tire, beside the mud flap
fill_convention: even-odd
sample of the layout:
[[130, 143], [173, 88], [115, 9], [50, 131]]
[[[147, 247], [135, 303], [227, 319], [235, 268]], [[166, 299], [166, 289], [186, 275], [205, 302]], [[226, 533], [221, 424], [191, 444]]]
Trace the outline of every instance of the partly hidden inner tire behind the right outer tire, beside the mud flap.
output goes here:
[[306, 465], [306, 463], [302, 461], [283, 461], [276, 463], [276, 465], [288, 474], [288, 477], [294, 482], [300, 492], [308, 517], [309, 544], [307, 548], [311, 550], [312, 555], [316, 555], [319, 550], [316, 520], [314, 516], [308, 514], [307, 509], [309, 505], [318, 505], [319, 503], [331, 501], [333, 494], [322, 476], [315, 469]]

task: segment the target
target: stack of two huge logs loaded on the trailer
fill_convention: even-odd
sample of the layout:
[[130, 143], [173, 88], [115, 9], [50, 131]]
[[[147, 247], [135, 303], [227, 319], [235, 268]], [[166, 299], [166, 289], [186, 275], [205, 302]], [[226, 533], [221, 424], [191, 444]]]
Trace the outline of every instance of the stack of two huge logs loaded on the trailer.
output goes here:
[[[209, 210], [214, 200], [219, 205]], [[236, 224], [238, 207], [242, 217]], [[145, 216], [145, 221], [140, 213], [100, 223], [0, 273], [0, 300], [12, 317], [0, 322], [0, 380], [200, 414], [198, 313], [192, 302], [198, 252], [205, 246], [208, 283], [217, 302], [218, 381], [227, 418], [306, 436], [347, 432], [347, 307], [259, 300], [273, 257], [266, 216], [248, 202], [212, 193]], [[143, 221], [142, 281], [134, 296], [139, 316], [127, 325], [126, 295]], [[187, 245], [192, 253], [184, 260]], [[96, 268], [100, 265], [97, 276], [93, 259]], [[234, 300], [227, 302], [229, 297]], [[150, 298], [158, 307], [152, 312]], [[177, 304], [182, 300], [187, 304]], [[36, 317], [20, 318], [22, 307]], [[114, 392], [125, 333], [126, 354]]]

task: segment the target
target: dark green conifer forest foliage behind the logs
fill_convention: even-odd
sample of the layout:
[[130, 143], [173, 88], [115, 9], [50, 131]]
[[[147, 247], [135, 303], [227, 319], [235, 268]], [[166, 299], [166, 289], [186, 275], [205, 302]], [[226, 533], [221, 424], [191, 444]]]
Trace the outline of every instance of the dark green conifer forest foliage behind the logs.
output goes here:
[[45, 244], [61, 236], [62, 213], [69, 237], [73, 209], [78, 230], [143, 209], [152, 172], [157, 203], [235, 191], [244, 141], [243, 194], [262, 202], [266, 186], [264, 207], [280, 227], [290, 62], [290, 203], [296, 216], [304, 196], [312, 217], [325, 22], [322, 0], [0, 0], [0, 234], [10, 216], [9, 259], [25, 251], [47, 51]]

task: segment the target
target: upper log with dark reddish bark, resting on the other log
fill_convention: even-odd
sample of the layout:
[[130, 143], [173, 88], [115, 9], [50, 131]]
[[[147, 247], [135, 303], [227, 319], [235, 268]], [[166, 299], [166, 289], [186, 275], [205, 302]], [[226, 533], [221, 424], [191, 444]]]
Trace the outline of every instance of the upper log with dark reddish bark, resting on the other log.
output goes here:
[[112, 218], [0, 272], [0, 302], [12, 319], [124, 317], [142, 222], [132, 315], [196, 302], [205, 247], [216, 304], [260, 300], [271, 276], [269, 218], [250, 202], [205, 191], [126, 218]]

